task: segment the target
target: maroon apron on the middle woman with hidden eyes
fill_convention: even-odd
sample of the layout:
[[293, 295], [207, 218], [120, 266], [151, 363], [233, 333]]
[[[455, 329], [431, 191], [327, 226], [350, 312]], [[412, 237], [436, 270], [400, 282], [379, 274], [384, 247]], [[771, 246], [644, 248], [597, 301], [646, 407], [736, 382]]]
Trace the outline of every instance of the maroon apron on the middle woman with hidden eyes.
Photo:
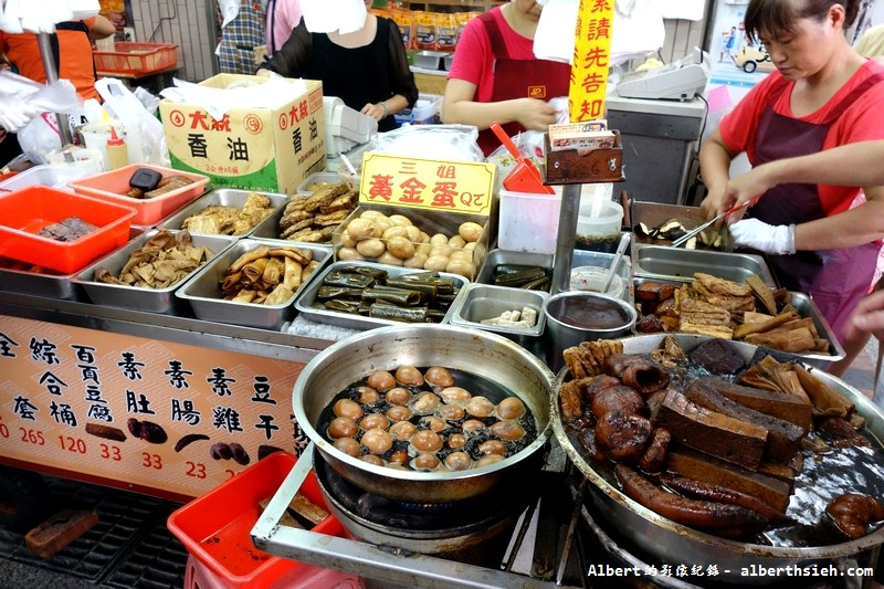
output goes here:
[[[494, 15], [485, 12], [478, 15], [488, 33], [491, 49], [494, 52], [494, 82], [492, 102], [512, 101], [514, 98], [538, 98], [548, 101], [556, 96], [567, 96], [570, 84], [571, 66], [567, 63], [550, 60], [513, 60], [506, 51], [501, 29]], [[502, 125], [508, 136], [525, 130], [518, 123]], [[478, 146], [487, 156], [501, 146], [501, 141], [491, 129], [478, 134]]]

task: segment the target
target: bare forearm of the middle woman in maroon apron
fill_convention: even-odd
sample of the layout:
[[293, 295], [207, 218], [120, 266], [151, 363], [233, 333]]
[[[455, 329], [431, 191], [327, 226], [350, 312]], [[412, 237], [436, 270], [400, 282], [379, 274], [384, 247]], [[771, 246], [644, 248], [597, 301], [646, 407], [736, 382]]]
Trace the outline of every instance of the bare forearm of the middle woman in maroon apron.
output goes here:
[[442, 102], [442, 122], [474, 125], [487, 129], [492, 123], [516, 122], [526, 129], [546, 130], [556, 122], [556, 109], [537, 98], [515, 98], [496, 103], [475, 102], [476, 85], [455, 77], [449, 78]]

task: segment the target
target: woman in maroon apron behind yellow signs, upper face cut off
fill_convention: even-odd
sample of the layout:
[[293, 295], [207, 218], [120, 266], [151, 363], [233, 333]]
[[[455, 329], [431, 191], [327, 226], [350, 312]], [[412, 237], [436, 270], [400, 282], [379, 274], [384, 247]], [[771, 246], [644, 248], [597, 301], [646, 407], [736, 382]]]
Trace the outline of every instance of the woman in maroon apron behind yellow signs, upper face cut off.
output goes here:
[[547, 101], [568, 95], [570, 66], [534, 56], [541, 10], [535, 0], [511, 0], [467, 22], [457, 41], [442, 120], [478, 127], [486, 156], [501, 145], [492, 123], [509, 136], [546, 130], [556, 120]]

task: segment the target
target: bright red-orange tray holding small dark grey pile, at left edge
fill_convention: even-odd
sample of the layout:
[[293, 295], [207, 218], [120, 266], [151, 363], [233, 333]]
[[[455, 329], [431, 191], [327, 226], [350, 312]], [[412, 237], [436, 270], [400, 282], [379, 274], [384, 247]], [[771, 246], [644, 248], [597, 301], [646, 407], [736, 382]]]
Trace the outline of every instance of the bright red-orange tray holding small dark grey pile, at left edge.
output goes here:
[[[36, 234], [69, 217], [78, 217], [98, 229], [67, 242]], [[126, 243], [133, 217], [131, 207], [45, 186], [0, 194], [0, 256], [73, 274]]]

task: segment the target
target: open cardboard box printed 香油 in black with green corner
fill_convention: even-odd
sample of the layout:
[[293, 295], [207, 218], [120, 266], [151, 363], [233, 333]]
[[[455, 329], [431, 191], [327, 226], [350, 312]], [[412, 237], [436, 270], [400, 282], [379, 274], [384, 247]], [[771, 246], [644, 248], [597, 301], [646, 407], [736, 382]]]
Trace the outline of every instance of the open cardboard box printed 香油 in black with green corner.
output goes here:
[[[266, 78], [219, 74], [199, 85], [225, 88], [243, 82]], [[307, 176], [325, 169], [326, 157], [323, 84], [304, 82], [307, 92], [276, 108], [233, 108], [221, 120], [201, 106], [161, 101], [171, 166], [204, 173], [214, 187], [294, 194]]]

